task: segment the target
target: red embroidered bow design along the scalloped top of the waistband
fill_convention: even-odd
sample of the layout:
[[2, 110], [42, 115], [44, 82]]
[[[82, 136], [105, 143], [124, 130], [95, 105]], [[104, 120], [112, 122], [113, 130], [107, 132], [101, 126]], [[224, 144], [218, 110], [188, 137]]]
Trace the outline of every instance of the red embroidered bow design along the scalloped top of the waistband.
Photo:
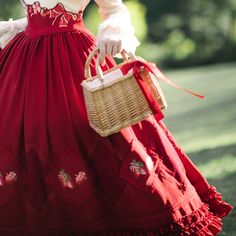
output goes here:
[[59, 27], [67, 27], [71, 21], [80, 19], [83, 13], [83, 11], [79, 11], [78, 13], [69, 12], [61, 3], [58, 3], [52, 9], [47, 9], [41, 7], [38, 1], [34, 2], [32, 5], [28, 5], [28, 10], [31, 17], [40, 14], [42, 17], [48, 16], [49, 18], [53, 18], [54, 20], [52, 25], [54, 25], [56, 20], [59, 19]]

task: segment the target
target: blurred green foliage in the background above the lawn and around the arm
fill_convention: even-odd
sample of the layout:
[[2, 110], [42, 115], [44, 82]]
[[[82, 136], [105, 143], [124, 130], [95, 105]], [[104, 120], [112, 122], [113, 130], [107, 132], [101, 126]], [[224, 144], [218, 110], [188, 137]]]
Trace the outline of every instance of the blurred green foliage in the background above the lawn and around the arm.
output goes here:
[[[183, 67], [236, 59], [235, 0], [127, 0], [141, 56], [162, 66]], [[11, 7], [10, 7], [11, 6]], [[23, 15], [19, 0], [0, 0], [0, 17]], [[88, 28], [101, 21], [91, 1]]]

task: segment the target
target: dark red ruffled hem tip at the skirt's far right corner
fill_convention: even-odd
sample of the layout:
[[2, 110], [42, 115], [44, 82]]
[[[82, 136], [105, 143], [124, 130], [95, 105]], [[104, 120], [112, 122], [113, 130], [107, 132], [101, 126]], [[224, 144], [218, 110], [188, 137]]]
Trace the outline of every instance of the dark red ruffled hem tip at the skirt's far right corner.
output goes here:
[[210, 211], [220, 218], [227, 216], [233, 210], [233, 206], [223, 201], [221, 194], [213, 185], [210, 185], [208, 191], [200, 197], [209, 205]]

